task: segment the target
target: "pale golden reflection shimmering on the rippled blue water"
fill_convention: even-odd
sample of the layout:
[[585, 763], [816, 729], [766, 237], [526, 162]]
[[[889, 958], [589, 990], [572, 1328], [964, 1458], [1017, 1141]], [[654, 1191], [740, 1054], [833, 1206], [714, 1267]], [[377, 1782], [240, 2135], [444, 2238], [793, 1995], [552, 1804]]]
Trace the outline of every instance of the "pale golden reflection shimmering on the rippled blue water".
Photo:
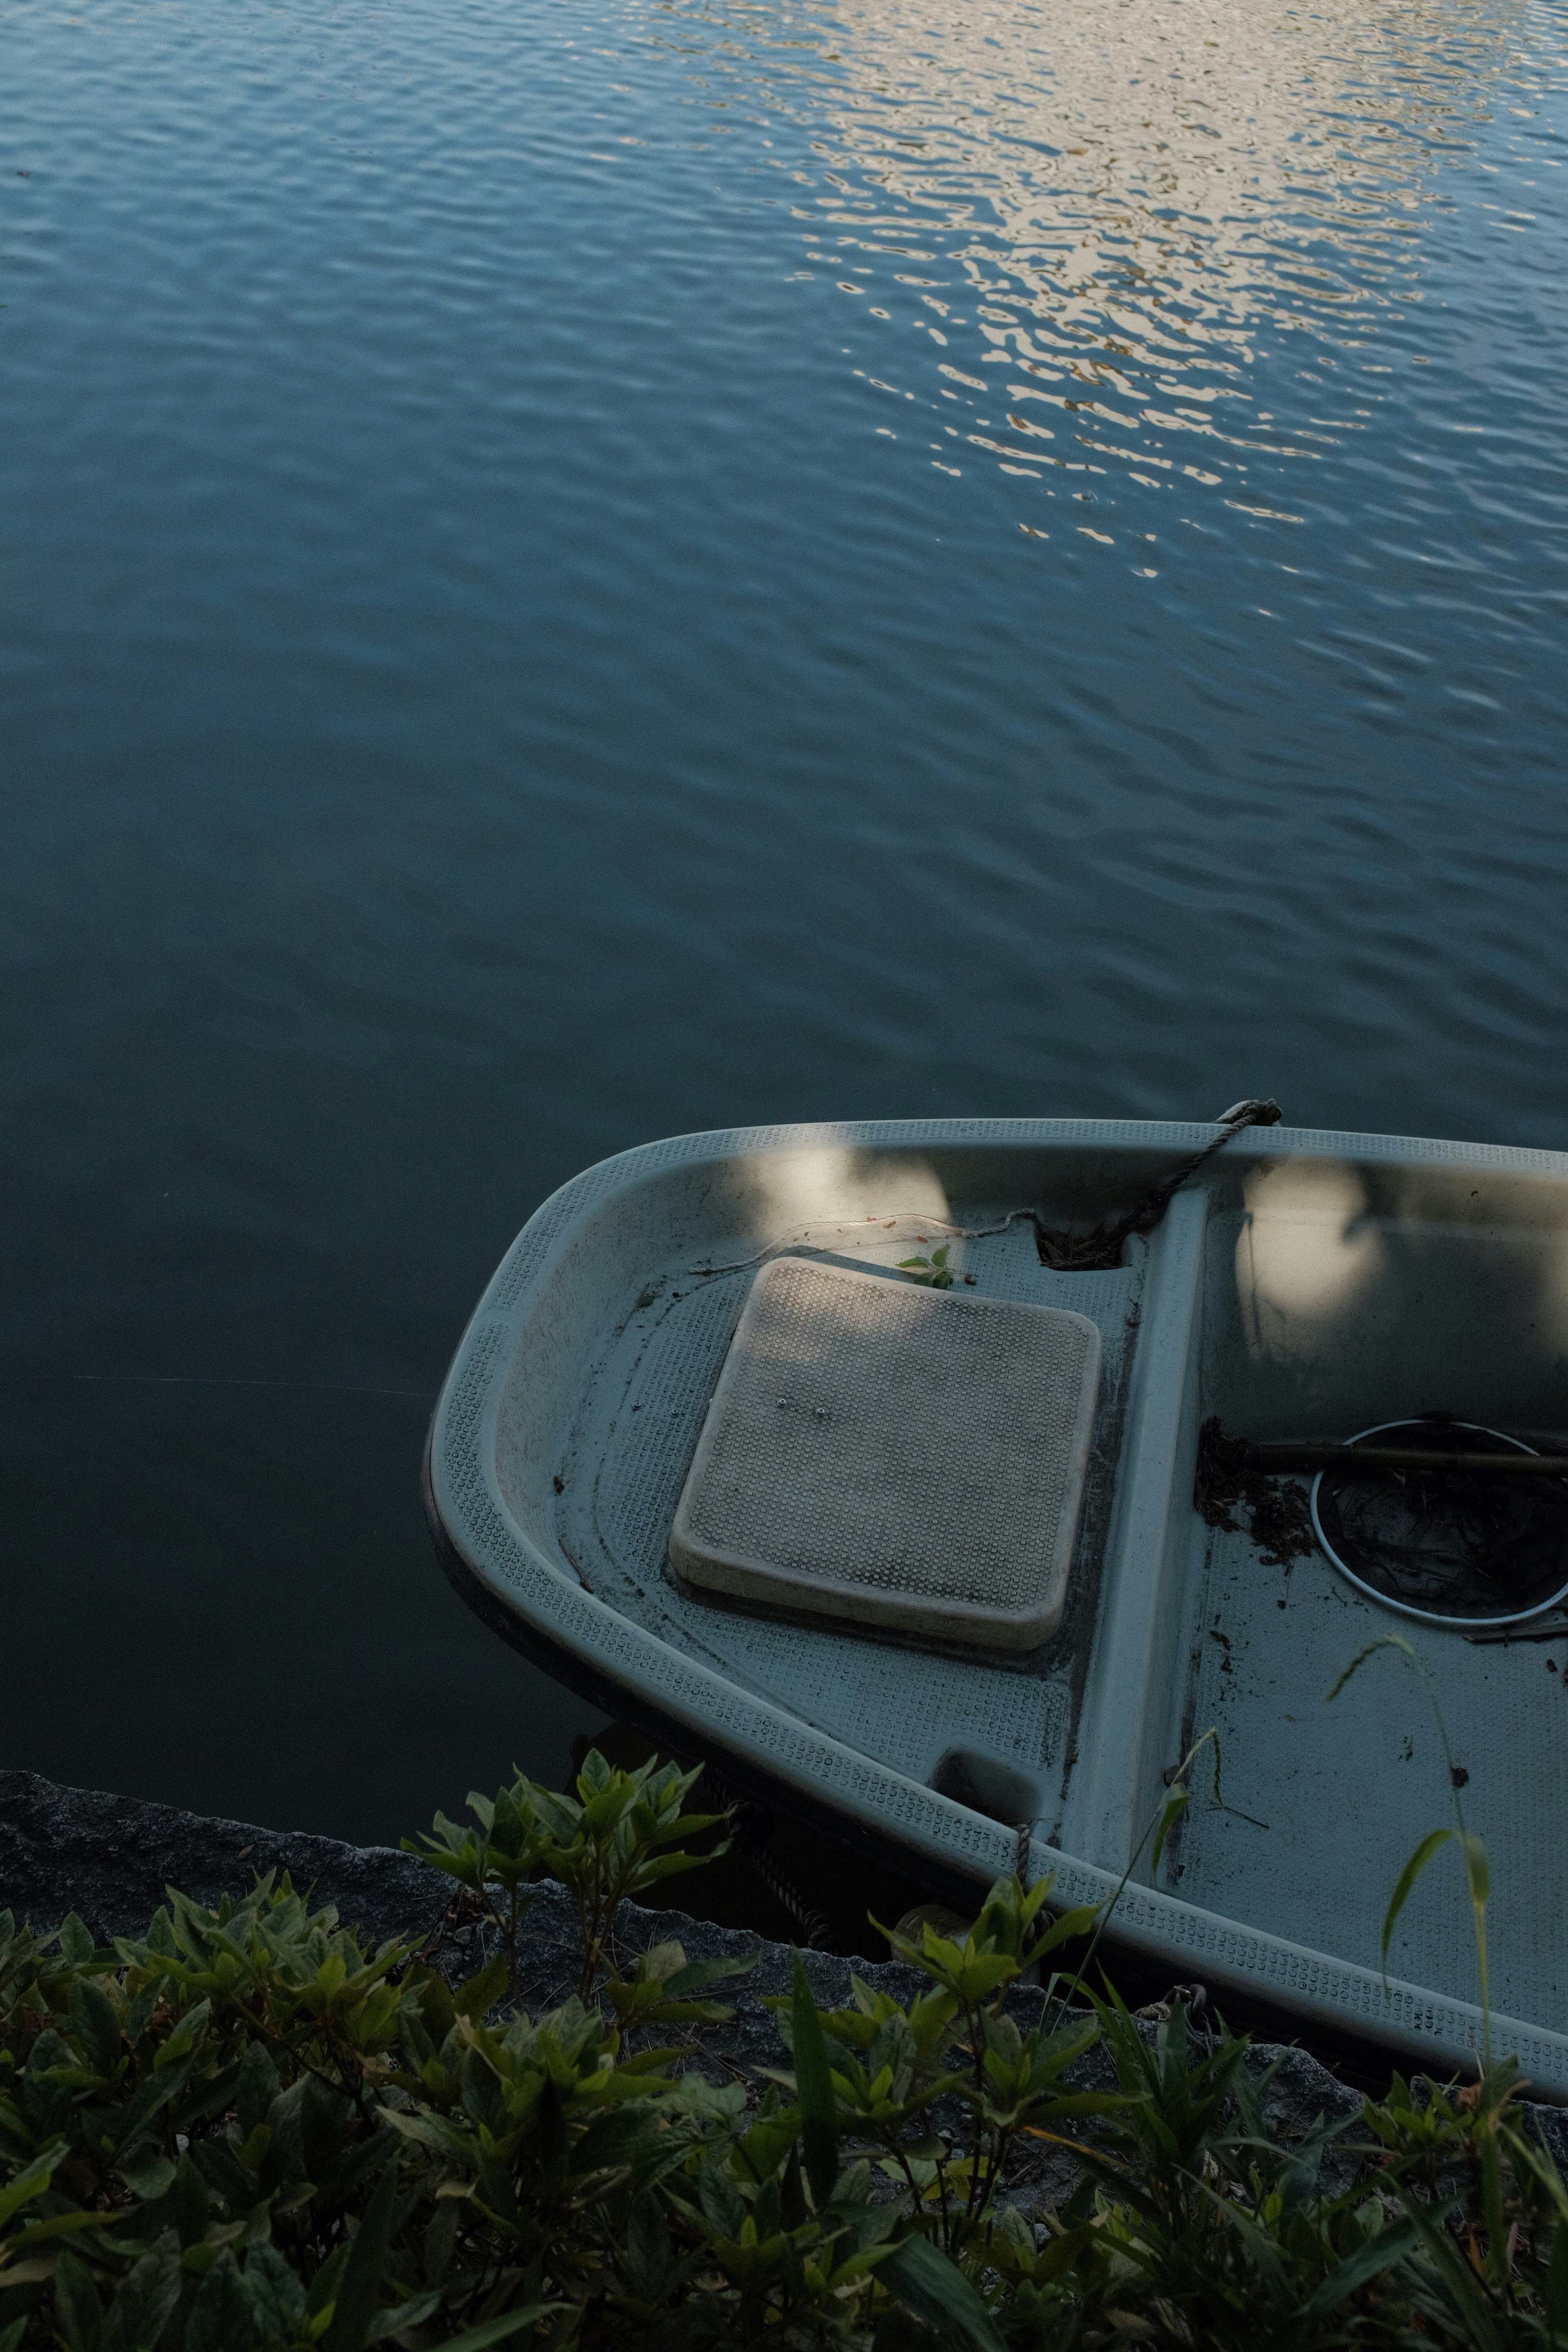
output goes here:
[[1422, 0], [950, 19], [846, 0], [818, 52], [842, 75], [818, 85], [823, 167], [797, 174], [806, 254], [903, 336], [872, 383], [907, 395], [910, 327], [938, 346], [945, 397], [985, 412], [950, 421], [950, 445], [1037, 480], [1229, 477], [1232, 503], [1274, 515], [1246, 503], [1251, 461], [1265, 480], [1312, 461], [1368, 409], [1274, 416], [1255, 362], [1295, 336], [1300, 369], [1335, 369], [1420, 306], [1443, 165], [1472, 153], [1512, 24]]

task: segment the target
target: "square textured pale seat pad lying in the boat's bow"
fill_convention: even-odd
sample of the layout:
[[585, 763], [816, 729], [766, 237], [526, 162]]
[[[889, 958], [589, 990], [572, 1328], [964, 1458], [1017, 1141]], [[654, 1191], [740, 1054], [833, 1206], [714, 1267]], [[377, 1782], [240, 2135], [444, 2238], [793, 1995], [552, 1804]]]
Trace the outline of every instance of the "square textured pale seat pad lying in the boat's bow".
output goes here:
[[776, 1258], [708, 1406], [670, 1564], [762, 1609], [1034, 1649], [1067, 1599], [1098, 1388], [1086, 1315]]

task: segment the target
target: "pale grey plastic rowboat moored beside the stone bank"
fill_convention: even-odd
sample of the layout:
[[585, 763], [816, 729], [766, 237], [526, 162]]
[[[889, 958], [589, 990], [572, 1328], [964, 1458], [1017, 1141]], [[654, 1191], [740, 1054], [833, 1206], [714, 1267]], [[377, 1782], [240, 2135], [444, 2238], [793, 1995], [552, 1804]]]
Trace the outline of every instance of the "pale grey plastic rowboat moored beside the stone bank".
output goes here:
[[[1326, 1698], [1366, 1642], [1403, 1632], [1490, 1853], [1495, 2039], [1568, 2096], [1568, 1637], [1474, 1644], [1321, 1550], [1265, 1559], [1192, 1501], [1208, 1416], [1345, 1439], [1443, 1411], [1556, 1451], [1568, 1160], [1253, 1129], [1119, 1265], [1041, 1263], [1039, 1225], [1114, 1218], [1213, 1141], [1086, 1120], [773, 1127], [588, 1169], [529, 1218], [463, 1334], [430, 1430], [437, 1545], [491, 1625], [609, 1712], [950, 1893], [1006, 1870], [1020, 1823], [1063, 1900], [1110, 1893], [1161, 1776], [1218, 1726], [1225, 1809], [1199, 1773], [1159, 1870], [1135, 1865], [1114, 1940], [1222, 2002], [1448, 2070], [1481, 2025], [1453, 1849], [1399, 1922], [1387, 1987], [1378, 1966], [1399, 1870], [1453, 1820], [1432, 1705], [1394, 1651]], [[762, 1588], [677, 1573], [677, 1508], [759, 1272], [795, 1258], [893, 1277], [943, 1247], [954, 1312], [1011, 1301], [1098, 1331], [1056, 1630], [980, 1649], [952, 1621], [802, 1613], [788, 1592], [769, 1609]], [[938, 1461], [945, 1425], [926, 1428]]]

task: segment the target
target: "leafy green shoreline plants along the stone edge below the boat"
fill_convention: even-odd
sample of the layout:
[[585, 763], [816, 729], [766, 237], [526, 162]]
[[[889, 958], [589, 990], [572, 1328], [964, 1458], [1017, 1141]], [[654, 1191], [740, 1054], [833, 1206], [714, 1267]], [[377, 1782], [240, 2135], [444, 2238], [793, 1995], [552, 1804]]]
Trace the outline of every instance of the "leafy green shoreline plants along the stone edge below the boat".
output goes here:
[[[440, 1936], [369, 1950], [270, 1870], [110, 1943], [0, 1912], [0, 2352], [1568, 2345], [1514, 2060], [1281, 2112], [1197, 1994], [1048, 1973], [1105, 1924], [1048, 1882], [997, 1879], [961, 1940], [884, 1929], [907, 1997], [820, 2006], [797, 1955], [776, 2063], [715, 2065], [748, 1962], [616, 1940], [724, 1851], [696, 1780], [590, 1752], [404, 1839], [456, 1882], [456, 1983]], [[578, 1980], [529, 2013], [545, 1879]]]

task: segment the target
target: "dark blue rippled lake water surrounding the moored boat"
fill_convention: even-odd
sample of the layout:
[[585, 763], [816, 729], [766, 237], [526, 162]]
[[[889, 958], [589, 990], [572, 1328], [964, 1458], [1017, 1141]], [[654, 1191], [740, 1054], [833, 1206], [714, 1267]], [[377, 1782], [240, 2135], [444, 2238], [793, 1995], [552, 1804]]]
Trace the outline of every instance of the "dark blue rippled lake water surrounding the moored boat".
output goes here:
[[0, 1762], [559, 1776], [418, 1446], [632, 1141], [1568, 1145], [1561, 9], [0, 40]]

